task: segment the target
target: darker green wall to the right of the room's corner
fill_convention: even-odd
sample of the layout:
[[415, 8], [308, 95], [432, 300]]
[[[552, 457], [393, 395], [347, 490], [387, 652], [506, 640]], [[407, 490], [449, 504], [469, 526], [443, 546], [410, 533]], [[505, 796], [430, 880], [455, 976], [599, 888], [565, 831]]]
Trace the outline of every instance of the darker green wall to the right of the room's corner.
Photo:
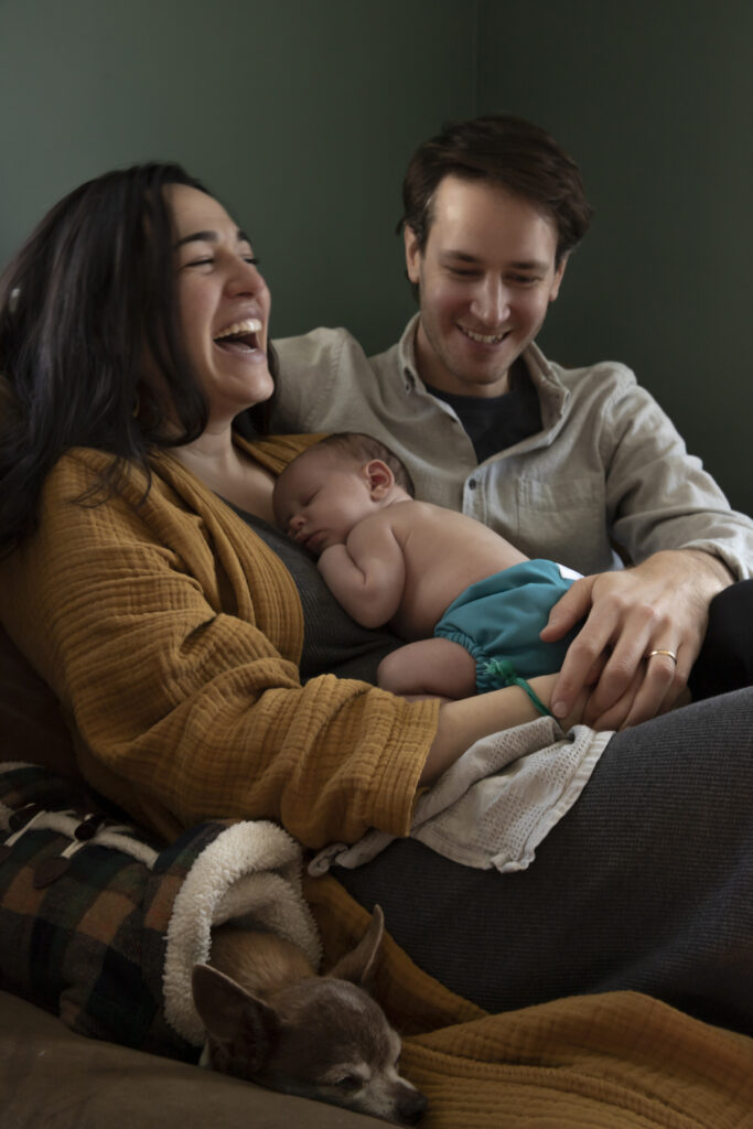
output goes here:
[[753, 5], [481, 6], [479, 112], [546, 125], [596, 217], [542, 333], [622, 360], [753, 514]]

